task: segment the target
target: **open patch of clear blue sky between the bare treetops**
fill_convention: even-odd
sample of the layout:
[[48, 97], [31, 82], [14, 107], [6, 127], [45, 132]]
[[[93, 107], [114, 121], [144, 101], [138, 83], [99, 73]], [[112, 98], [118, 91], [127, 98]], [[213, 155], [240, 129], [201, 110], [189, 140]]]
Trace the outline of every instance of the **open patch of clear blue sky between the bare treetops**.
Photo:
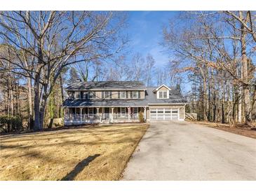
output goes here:
[[177, 11], [129, 11], [127, 33], [132, 53], [141, 53], [144, 57], [151, 53], [156, 66], [167, 64], [168, 54], [159, 43], [163, 26], [177, 14]]

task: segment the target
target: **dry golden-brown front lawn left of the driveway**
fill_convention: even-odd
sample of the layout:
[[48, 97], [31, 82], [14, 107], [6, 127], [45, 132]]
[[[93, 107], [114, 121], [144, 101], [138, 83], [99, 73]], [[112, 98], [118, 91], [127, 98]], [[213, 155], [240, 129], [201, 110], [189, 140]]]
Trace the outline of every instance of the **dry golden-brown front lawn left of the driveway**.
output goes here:
[[147, 124], [2, 136], [0, 180], [117, 180]]

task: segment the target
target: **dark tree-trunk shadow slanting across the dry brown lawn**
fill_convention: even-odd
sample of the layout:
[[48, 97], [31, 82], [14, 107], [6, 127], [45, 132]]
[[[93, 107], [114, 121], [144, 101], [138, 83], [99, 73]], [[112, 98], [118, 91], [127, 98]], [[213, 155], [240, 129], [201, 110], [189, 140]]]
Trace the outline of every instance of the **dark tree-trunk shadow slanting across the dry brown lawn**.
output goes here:
[[100, 154], [95, 154], [94, 156], [88, 156], [88, 158], [85, 158], [81, 160], [74, 169], [69, 172], [65, 177], [61, 179], [61, 181], [72, 181], [74, 180], [74, 177], [76, 177], [79, 172], [83, 170], [84, 167], [88, 166], [90, 162], [92, 162], [95, 158], [100, 156]]

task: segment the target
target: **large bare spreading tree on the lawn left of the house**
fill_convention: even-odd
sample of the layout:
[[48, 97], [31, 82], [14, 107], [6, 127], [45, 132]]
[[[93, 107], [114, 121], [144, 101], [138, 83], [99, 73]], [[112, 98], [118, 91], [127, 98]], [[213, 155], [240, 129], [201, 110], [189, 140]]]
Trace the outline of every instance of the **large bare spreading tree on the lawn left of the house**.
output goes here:
[[[0, 38], [8, 43], [16, 59], [0, 55], [0, 60], [11, 62], [16, 74], [32, 79], [34, 130], [43, 128], [48, 96], [65, 67], [76, 62], [106, 60], [119, 53], [125, 43], [119, 33], [124, 20], [121, 13], [116, 14], [1, 11]], [[111, 21], [114, 22], [110, 25]]]

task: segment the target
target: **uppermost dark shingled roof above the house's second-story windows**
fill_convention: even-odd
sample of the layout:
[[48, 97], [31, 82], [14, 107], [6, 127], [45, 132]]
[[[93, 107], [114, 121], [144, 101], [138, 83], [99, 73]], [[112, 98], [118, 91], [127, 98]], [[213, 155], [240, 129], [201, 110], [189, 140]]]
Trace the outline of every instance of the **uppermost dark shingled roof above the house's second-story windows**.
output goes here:
[[88, 81], [76, 82], [66, 90], [146, 90], [142, 81]]

